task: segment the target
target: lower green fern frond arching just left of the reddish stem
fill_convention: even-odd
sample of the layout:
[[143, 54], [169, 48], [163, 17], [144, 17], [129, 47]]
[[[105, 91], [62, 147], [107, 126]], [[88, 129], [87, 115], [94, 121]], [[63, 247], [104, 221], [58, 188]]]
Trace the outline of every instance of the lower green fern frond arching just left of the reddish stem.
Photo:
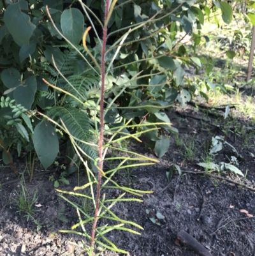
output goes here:
[[[84, 111], [65, 105], [64, 107], [52, 107], [48, 110], [47, 116], [55, 121], [59, 121], [61, 118], [73, 137], [76, 137], [79, 140], [84, 140], [85, 142], [94, 142], [94, 135], [92, 133], [93, 128], [89, 117]], [[91, 156], [91, 158], [96, 159], [98, 157], [98, 152], [94, 147], [82, 142], [77, 142], [77, 144], [86, 154]]]

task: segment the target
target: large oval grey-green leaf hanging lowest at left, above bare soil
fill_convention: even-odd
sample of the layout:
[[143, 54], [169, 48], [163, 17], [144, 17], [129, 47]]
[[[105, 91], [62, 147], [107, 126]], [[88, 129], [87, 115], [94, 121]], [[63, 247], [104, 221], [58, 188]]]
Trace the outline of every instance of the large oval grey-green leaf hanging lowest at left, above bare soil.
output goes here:
[[33, 143], [41, 164], [47, 169], [59, 152], [59, 140], [52, 124], [48, 121], [38, 123], [34, 128]]

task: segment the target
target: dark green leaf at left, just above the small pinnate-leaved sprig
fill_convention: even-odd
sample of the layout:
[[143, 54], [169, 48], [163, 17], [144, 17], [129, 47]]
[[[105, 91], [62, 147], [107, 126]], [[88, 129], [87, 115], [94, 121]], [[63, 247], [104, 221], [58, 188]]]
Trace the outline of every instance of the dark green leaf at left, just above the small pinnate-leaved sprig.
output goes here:
[[25, 109], [30, 110], [34, 102], [34, 95], [36, 93], [37, 83], [36, 77], [33, 75], [29, 79], [22, 83], [22, 86], [18, 86], [13, 96], [17, 104], [21, 104]]

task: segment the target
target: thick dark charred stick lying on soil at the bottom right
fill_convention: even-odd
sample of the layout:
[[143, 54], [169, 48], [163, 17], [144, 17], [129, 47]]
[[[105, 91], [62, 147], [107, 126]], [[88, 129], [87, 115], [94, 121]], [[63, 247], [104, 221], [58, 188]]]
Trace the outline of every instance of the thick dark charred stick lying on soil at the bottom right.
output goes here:
[[210, 252], [205, 249], [203, 245], [198, 243], [194, 237], [187, 234], [184, 230], [180, 230], [180, 232], [177, 234], [177, 238], [187, 246], [189, 246], [194, 252], [198, 253], [198, 255], [201, 256], [212, 256]]

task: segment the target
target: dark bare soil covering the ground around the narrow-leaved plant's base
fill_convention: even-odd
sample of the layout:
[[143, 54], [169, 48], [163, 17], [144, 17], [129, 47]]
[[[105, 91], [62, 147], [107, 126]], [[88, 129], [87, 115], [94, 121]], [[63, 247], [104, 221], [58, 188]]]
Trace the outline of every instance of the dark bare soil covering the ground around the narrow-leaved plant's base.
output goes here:
[[[154, 191], [144, 195], [143, 203], [125, 202], [113, 208], [120, 218], [143, 227], [140, 236], [123, 231], [109, 233], [109, 239], [119, 248], [128, 251], [129, 255], [198, 255], [177, 239], [180, 230], [188, 232], [214, 256], [255, 255], [255, 223], [251, 216], [255, 215], [255, 197], [252, 191], [255, 188], [255, 165], [252, 157], [252, 154], [255, 155], [254, 131], [244, 129], [240, 133], [241, 127], [251, 127], [251, 124], [231, 117], [226, 124], [219, 116], [224, 114], [221, 110], [206, 115], [201, 113], [194, 112], [193, 107], [171, 110], [168, 114], [173, 126], [179, 129], [179, 139], [182, 139], [180, 146], [177, 146], [175, 136], [172, 136], [170, 149], [159, 164], [133, 170], [132, 176], [126, 174], [115, 177], [120, 183], [129, 184], [132, 188]], [[237, 149], [238, 154], [242, 155], [238, 158], [238, 168], [244, 174], [248, 170], [245, 180], [226, 171], [221, 175], [217, 172], [213, 172], [213, 176], [205, 175], [203, 169], [196, 165], [203, 162], [202, 157], [205, 158], [208, 150], [206, 147], [215, 135], [224, 136]], [[247, 136], [251, 140], [245, 140]], [[187, 158], [183, 146], [191, 145], [190, 143], [194, 143], [192, 151], [196, 152], [193, 160]], [[135, 145], [134, 148], [139, 153], [156, 158], [149, 149], [145, 149], [145, 144]], [[229, 163], [226, 156], [231, 155], [234, 155], [233, 151], [226, 147], [215, 156], [214, 162]], [[180, 166], [182, 176], [179, 176], [173, 164]], [[20, 172], [25, 169], [22, 160], [17, 160], [15, 165]], [[169, 171], [170, 174], [173, 173], [170, 182], [166, 178], [166, 172]], [[39, 172], [38, 168], [34, 172]], [[17, 206], [13, 202], [13, 199], [17, 199], [16, 191], [20, 191], [20, 183], [6, 184], [0, 190], [1, 256], [85, 255], [81, 248], [73, 248], [69, 244], [69, 241], [83, 243], [84, 237], [58, 232], [60, 229], [70, 229], [71, 225], [78, 222], [78, 216], [74, 207], [58, 197], [54, 184], [48, 180], [49, 176], [50, 174], [45, 174], [34, 177], [31, 183], [26, 183], [30, 195], [38, 192], [36, 205], [41, 206], [34, 206], [33, 219], [29, 218], [28, 221], [23, 214], [17, 213]], [[15, 177], [10, 168], [1, 170], [2, 184], [11, 179]], [[79, 179], [80, 184], [84, 184], [85, 174], [80, 174]], [[77, 186], [77, 180], [78, 174], [73, 174], [69, 177], [70, 184], [61, 184], [59, 188], [71, 191]], [[243, 186], [233, 182], [242, 183]], [[110, 190], [108, 197], [114, 198], [118, 193]], [[242, 213], [242, 209], [250, 215]], [[161, 213], [164, 219], [157, 220], [157, 213]], [[153, 217], [156, 218], [156, 223], [150, 220]], [[100, 224], [102, 223], [99, 222]], [[102, 255], [119, 254], [104, 252]]]

